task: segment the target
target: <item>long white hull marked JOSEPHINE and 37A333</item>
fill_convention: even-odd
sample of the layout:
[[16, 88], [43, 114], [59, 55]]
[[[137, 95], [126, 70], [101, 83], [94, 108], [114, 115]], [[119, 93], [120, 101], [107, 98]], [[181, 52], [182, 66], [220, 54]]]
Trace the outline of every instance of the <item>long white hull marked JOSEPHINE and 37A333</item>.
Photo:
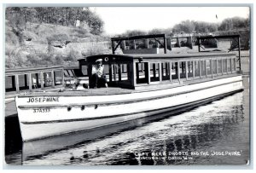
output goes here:
[[32, 141], [172, 112], [242, 88], [241, 76], [236, 76], [123, 95], [59, 96], [57, 101], [22, 96], [16, 106], [22, 139]]

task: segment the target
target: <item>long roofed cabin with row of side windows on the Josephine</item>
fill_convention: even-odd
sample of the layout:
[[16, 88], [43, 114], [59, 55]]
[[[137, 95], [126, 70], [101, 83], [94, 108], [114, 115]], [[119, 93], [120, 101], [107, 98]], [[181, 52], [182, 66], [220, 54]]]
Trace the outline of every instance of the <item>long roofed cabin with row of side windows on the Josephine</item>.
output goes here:
[[235, 53], [93, 55], [79, 60], [90, 86], [92, 66], [98, 59], [102, 59], [108, 87], [124, 89], [166, 88], [240, 73]]

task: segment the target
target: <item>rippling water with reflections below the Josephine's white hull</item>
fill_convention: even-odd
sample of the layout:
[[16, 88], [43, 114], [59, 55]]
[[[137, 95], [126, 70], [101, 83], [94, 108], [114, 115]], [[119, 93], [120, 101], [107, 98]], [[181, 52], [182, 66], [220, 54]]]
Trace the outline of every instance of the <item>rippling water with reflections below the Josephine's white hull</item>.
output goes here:
[[[72, 136], [26, 142], [22, 164], [246, 164], [249, 132], [248, 112], [244, 111], [241, 92], [176, 116], [163, 114]], [[137, 153], [151, 157], [152, 153], [225, 150], [243, 154], [199, 155], [191, 160], [137, 157]]]

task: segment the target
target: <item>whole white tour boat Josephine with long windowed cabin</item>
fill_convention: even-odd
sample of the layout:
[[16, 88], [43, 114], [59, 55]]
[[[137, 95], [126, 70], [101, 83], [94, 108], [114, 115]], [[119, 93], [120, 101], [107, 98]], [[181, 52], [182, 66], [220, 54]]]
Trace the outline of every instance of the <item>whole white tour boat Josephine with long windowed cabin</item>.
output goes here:
[[[108, 88], [90, 88], [101, 59]], [[93, 55], [79, 60], [89, 89], [15, 98], [23, 141], [93, 130], [191, 107], [243, 89], [235, 53]]]

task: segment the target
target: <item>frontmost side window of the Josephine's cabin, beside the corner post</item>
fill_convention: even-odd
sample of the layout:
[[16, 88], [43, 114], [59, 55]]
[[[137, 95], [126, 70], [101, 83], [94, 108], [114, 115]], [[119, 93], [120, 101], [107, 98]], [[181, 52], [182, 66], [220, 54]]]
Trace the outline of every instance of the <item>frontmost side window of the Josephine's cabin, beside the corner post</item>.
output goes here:
[[146, 84], [148, 83], [148, 78], [147, 78], [147, 72], [145, 70], [147, 66], [146, 62], [137, 62], [136, 63], [136, 82], [137, 84]]

